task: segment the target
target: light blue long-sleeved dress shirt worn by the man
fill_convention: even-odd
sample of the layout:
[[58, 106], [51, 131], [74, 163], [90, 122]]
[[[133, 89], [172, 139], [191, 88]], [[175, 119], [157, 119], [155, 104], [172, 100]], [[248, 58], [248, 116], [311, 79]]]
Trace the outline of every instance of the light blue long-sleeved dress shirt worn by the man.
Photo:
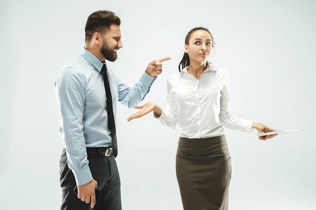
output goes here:
[[[77, 185], [93, 178], [89, 169], [86, 147], [112, 145], [108, 129], [106, 91], [101, 76], [102, 62], [88, 50], [64, 66], [55, 81], [60, 112], [60, 134], [67, 152], [68, 166], [75, 175]], [[127, 87], [108, 67], [115, 122], [117, 103], [132, 108], [139, 104], [155, 77], [145, 72], [134, 87]]]

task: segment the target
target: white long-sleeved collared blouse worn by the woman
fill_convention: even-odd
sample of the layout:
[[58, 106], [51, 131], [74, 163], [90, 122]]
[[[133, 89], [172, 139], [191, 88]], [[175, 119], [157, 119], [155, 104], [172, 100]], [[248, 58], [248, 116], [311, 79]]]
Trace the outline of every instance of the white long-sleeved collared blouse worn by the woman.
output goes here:
[[229, 74], [207, 64], [199, 80], [185, 67], [167, 81], [167, 110], [157, 118], [180, 137], [207, 138], [224, 134], [224, 127], [251, 132], [252, 121], [230, 113]]

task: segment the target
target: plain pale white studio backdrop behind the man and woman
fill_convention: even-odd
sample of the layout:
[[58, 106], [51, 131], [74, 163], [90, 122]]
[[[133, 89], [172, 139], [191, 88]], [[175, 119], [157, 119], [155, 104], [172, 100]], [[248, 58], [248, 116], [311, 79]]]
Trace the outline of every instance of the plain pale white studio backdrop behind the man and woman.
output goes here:
[[[143, 103], [166, 106], [187, 32], [216, 42], [212, 63], [230, 73], [231, 112], [275, 129], [305, 128], [267, 142], [225, 129], [232, 157], [230, 210], [316, 209], [316, 3], [240, 1], [0, 1], [1, 209], [59, 209], [59, 114], [54, 80], [80, 54], [87, 17], [121, 18], [123, 48], [109, 63], [132, 86], [153, 59], [170, 56]], [[175, 175], [178, 135], [152, 114], [118, 107], [123, 209], [182, 209]]]

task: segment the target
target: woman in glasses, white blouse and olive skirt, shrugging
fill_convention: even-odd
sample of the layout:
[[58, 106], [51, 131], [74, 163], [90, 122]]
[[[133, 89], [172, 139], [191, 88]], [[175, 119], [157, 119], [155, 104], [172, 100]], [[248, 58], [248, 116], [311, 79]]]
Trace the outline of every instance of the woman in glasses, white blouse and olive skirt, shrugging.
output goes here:
[[230, 113], [228, 72], [208, 63], [213, 47], [206, 28], [192, 29], [185, 38], [180, 73], [167, 82], [167, 111], [146, 103], [128, 118], [153, 111], [162, 124], [178, 130], [176, 173], [184, 210], [228, 209], [231, 160], [223, 126], [258, 133], [275, 130]]

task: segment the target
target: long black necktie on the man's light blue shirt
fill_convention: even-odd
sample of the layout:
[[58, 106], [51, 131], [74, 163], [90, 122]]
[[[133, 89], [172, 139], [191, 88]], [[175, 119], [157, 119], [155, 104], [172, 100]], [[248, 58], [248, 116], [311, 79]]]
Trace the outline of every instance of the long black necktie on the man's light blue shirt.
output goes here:
[[108, 126], [111, 130], [112, 134], [112, 144], [113, 144], [113, 156], [116, 157], [118, 155], [118, 145], [116, 141], [116, 130], [115, 130], [115, 122], [114, 122], [114, 114], [113, 114], [113, 106], [112, 106], [112, 96], [111, 89], [108, 79], [107, 73], [107, 65], [103, 63], [101, 74], [103, 76], [104, 88], [106, 88], [106, 96], [107, 96], [107, 111], [108, 111]]

